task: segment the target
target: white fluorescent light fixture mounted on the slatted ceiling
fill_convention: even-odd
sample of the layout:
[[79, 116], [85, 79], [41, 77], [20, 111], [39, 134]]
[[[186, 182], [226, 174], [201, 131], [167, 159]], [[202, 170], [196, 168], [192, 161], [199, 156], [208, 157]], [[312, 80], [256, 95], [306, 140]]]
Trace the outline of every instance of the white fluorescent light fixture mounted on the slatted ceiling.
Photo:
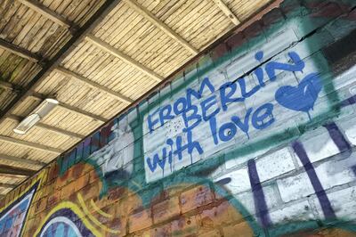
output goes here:
[[13, 129], [13, 132], [19, 135], [26, 134], [31, 127], [34, 127], [39, 120], [44, 119], [44, 116], [49, 114], [58, 104], [59, 102], [55, 99], [45, 99], [28, 117], [23, 119], [20, 124]]

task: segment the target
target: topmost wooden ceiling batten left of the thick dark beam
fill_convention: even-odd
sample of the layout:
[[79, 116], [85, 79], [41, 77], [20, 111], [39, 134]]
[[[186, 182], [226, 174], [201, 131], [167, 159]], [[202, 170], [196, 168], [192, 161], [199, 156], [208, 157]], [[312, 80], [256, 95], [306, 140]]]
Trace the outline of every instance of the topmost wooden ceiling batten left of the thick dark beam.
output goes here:
[[18, 0], [18, 1], [21, 4], [26, 5], [28, 8], [32, 9], [33, 11], [40, 13], [44, 17], [53, 20], [53, 22], [61, 25], [62, 27], [65, 27], [67, 29], [71, 27], [71, 22], [69, 20], [65, 19], [60, 14], [48, 9], [47, 7], [44, 6], [44, 4], [40, 4], [36, 0]]

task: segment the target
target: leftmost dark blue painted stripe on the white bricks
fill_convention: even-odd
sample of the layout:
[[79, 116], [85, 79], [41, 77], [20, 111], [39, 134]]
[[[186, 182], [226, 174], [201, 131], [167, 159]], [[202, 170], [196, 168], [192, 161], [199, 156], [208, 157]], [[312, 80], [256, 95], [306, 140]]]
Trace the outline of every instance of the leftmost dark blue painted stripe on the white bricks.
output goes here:
[[271, 217], [268, 212], [267, 203], [263, 193], [263, 187], [260, 182], [260, 177], [257, 173], [257, 168], [255, 165], [255, 159], [250, 159], [247, 162], [248, 166], [248, 176], [250, 178], [250, 184], [252, 187], [252, 192], [254, 194], [256, 216], [260, 219], [261, 224], [264, 228], [271, 225]]

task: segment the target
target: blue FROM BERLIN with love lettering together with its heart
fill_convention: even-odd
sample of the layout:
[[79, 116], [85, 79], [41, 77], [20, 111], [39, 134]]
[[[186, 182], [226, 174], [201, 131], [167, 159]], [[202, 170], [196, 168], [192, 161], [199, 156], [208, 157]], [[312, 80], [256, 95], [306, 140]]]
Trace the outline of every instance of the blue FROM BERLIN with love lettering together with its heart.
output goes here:
[[[180, 161], [184, 157], [183, 152], [190, 154], [191, 163], [193, 162], [193, 152], [199, 155], [202, 154], [204, 152], [203, 148], [200, 143], [193, 139], [195, 128], [202, 123], [208, 122], [210, 131], [198, 131], [198, 135], [204, 135], [205, 132], [209, 132], [209, 137], [213, 138], [214, 145], [233, 140], [239, 135], [239, 131], [247, 135], [247, 139], [250, 139], [252, 129], [263, 130], [271, 127], [276, 120], [273, 116], [274, 105], [271, 102], [263, 105], [259, 104], [258, 108], [246, 108], [244, 115], [238, 116], [237, 112], [231, 110], [232, 115], [226, 118], [225, 114], [223, 122], [222, 119], [218, 118], [220, 114], [223, 114], [229, 108], [234, 108], [235, 110], [237, 108], [245, 108], [242, 102], [250, 100], [263, 87], [268, 86], [269, 84], [266, 84], [267, 78], [270, 79], [270, 82], [275, 81], [277, 79], [277, 71], [303, 72], [305, 68], [305, 63], [295, 52], [288, 53], [290, 60], [287, 63], [272, 60], [263, 63], [263, 56], [262, 51], [255, 53], [255, 60], [259, 65], [241, 78], [231, 78], [231, 81], [221, 85], [218, 91], [215, 91], [215, 87], [206, 77], [201, 81], [198, 90], [187, 88], [184, 96], [181, 96], [171, 104], [154, 110], [148, 116], [150, 133], [158, 126], [163, 126], [177, 116], [180, 116], [184, 124], [182, 135], [178, 135], [174, 139], [167, 138], [167, 148], [160, 149], [159, 152], [154, 153], [152, 158], [148, 157], [146, 159], [151, 172], [154, 172], [157, 168], [161, 168], [164, 171], [167, 164], [170, 165], [172, 172], [173, 156], [177, 157], [176, 161]], [[265, 77], [264, 74], [267, 76]], [[247, 82], [248, 78], [255, 78], [256, 81]], [[275, 100], [289, 110], [303, 111], [309, 115], [309, 111], [313, 109], [321, 87], [320, 78], [316, 73], [312, 73], [307, 75], [296, 87], [279, 87], [275, 94]], [[241, 107], [231, 106], [238, 102], [241, 102]], [[183, 139], [183, 137], [186, 139]]]

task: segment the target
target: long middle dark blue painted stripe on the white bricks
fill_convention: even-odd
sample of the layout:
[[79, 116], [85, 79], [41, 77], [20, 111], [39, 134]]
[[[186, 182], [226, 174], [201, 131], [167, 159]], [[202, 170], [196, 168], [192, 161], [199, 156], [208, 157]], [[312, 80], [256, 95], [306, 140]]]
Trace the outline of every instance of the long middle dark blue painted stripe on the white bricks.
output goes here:
[[320, 183], [320, 179], [317, 176], [314, 167], [312, 166], [311, 160], [303, 148], [303, 144], [295, 142], [292, 144], [292, 147], [295, 150], [296, 155], [302, 161], [303, 167], [312, 182], [312, 187], [314, 188], [315, 194], [317, 194], [324, 216], [327, 219], [336, 219], [335, 211], [331, 207], [330, 200], [328, 200], [328, 195]]

